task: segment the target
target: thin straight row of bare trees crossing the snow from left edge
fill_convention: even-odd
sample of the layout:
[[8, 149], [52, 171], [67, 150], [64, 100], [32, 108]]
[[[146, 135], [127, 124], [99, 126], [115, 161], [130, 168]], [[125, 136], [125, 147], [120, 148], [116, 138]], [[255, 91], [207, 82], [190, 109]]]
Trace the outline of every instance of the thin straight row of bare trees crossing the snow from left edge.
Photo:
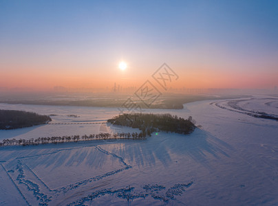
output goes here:
[[72, 135], [72, 136], [57, 136], [57, 137], [39, 137], [32, 139], [3, 139], [0, 146], [30, 146], [39, 144], [58, 144], [65, 142], [91, 141], [91, 140], [106, 140], [106, 139], [146, 139], [146, 135], [141, 133], [99, 133], [91, 135]]

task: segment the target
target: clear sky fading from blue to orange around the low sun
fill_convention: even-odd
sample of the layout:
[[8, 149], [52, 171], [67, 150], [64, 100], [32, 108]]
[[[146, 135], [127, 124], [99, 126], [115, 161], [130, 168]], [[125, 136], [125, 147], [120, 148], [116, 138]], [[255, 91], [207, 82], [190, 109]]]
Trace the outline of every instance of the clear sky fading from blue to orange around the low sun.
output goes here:
[[0, 0], [0, 87], [274, 88], [277, 37], [278, 1]]

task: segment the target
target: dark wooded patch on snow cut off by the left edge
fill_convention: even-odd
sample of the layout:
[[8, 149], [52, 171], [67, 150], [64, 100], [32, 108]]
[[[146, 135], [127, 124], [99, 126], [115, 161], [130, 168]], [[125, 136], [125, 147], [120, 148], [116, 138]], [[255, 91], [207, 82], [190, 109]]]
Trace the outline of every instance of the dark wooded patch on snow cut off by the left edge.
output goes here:
[[24, 128], [52, 121], [47, 115], [27, 111], [0, 110], [0, 130]]

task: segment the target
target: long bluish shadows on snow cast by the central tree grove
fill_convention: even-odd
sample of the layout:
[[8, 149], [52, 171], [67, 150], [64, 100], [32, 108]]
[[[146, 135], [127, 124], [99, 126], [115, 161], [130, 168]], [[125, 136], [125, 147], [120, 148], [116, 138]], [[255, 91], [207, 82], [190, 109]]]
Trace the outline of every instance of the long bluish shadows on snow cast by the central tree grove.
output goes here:
[[194, 161], [209, 167], [206, 160], [211, 158], [211, 155], [215, 159], [220, 159], [223, 155], [229, 157], [228, 152], [233, 150], [233, 147], [225, 141], [200, 128], [196, 128], [191, 135], [169, 133], [150, 137], [147, 141], [133, 143], [118, 141], [117, 144], [118, 146], [108, 146], [108, 150], [124, 159], [129, 159], [138, 167], [156, 165], [156, 161], [167, 167], [172, 162], [171, 154], [191, 157]]

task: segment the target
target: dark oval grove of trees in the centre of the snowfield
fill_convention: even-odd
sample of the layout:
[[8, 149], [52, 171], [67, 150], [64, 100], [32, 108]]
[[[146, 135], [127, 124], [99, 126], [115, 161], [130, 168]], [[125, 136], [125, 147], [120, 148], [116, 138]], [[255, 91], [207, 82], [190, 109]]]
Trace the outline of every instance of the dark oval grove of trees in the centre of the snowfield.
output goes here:
[[151, 136], [151, 133], [157, 131], [190, 134], [193, 133], [196, 126], [192, 117], [184, 119], [171, 114], [152, 114], [152, 113], [124, 113], [108, 119], [110, 124], [121, 126], [130, 126], [142, 130], [142, 135]]

